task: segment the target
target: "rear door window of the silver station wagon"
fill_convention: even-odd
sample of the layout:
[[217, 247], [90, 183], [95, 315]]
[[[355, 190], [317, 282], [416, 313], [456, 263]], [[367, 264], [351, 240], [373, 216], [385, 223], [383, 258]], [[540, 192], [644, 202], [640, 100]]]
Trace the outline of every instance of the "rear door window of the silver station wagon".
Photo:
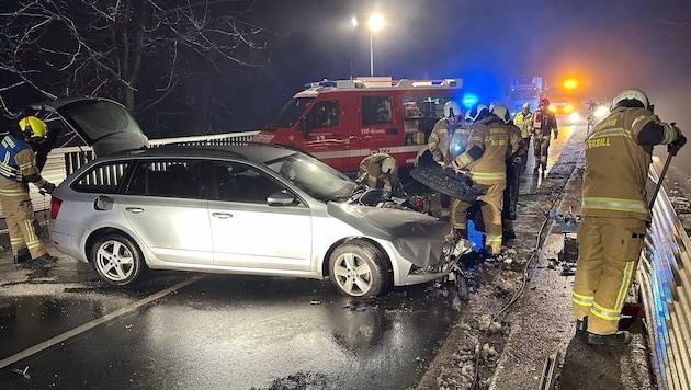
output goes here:
[[196, 160], [146, 160], [135, 168], [128, 195], [200, 198], [201, 162]]

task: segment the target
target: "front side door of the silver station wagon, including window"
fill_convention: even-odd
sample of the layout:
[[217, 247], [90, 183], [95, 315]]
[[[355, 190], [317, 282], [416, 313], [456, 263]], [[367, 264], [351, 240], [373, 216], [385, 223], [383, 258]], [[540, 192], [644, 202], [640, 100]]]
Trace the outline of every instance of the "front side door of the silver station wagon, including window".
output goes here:
[[267, 202], [271, 194], [291, 194], [285, 184], [242, 162], [217, 161], [208, 172], [215, 265], [268, 274], [311, 269], [309, 208]]

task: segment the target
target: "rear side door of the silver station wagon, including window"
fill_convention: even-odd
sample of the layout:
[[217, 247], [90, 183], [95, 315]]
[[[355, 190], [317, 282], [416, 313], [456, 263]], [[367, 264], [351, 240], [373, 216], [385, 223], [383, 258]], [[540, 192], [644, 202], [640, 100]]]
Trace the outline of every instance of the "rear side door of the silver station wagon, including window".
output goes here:
[[162, 262], [212, 264], [208, 200], [201, 161], [139, 161], [117, 204], [132, 229]]

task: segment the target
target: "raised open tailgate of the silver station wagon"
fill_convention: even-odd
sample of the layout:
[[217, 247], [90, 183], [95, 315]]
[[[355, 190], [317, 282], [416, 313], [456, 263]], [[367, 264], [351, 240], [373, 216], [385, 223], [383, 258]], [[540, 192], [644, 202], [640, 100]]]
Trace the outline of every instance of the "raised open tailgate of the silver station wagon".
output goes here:
[[149, 139], [134, 116], [125, 106], [109, 99], [59, 99], [32, 105], [30, 110], [43, 112], [42, 116], [48, 122], [48, 128], [49, 121], [59, 116], [67, 129], [79, 135], [97, 157], [149, 147]]

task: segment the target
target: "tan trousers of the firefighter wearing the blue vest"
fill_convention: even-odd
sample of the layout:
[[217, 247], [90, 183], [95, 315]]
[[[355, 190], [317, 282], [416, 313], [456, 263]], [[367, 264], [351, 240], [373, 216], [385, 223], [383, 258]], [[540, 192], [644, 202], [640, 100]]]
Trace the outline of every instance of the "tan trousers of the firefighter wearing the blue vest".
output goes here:
[[8, 223], [12, 254], [16, 256], [22, 248], [29, 249], [32, 259], [45, 254], [43, 242], [34, 229], [34, 207], [29, 193], [22, 196], [0, 195], [0, 202]]

